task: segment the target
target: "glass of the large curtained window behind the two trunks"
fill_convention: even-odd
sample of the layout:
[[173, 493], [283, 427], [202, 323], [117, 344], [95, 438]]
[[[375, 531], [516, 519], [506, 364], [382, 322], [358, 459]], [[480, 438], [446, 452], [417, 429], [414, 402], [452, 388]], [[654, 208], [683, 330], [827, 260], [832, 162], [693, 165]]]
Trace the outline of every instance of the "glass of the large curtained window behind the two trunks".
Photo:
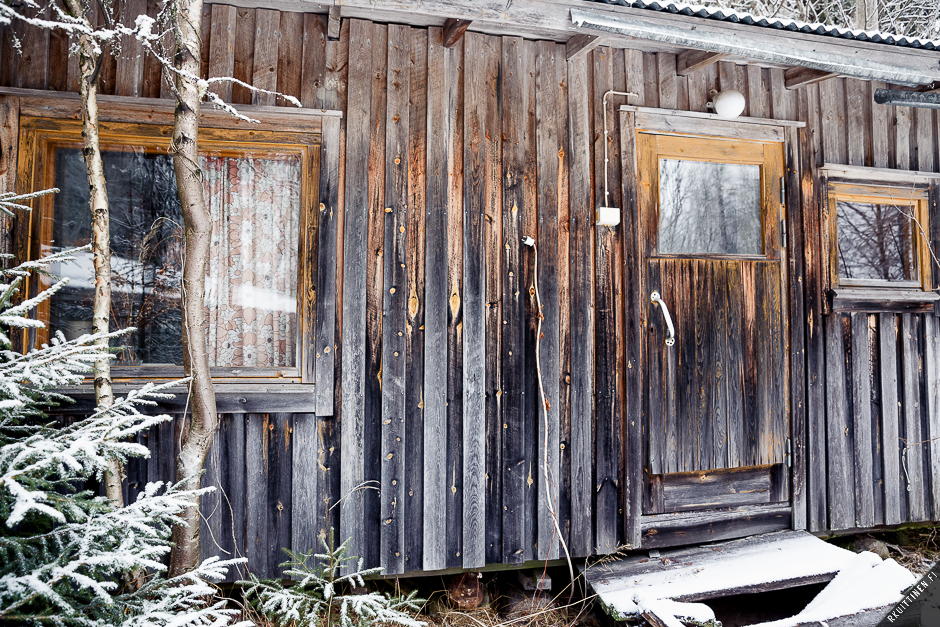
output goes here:
[[[111, 328], [116, 365], [182, 365], [179, 282], [183, 219], [165, 153], [103, 153], [111, 208]], [[206, 277], [212, 366], [295, 364], [299, 157], [202, 157], [213, 233]], [[78, 149], [56, 152], [53, 250], [90, 241], [88, 184]], [[53, 268], [69, 284], [52, 299], [50, 327], [91, 332], [91, 253]]]

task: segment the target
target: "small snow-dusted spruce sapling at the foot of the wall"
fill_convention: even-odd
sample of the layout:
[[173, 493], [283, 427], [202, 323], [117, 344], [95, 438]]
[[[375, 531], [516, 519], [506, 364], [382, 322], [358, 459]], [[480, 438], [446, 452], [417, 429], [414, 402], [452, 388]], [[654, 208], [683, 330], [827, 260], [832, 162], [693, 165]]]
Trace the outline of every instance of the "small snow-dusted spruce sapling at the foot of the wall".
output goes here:
[[297, 580], [294, 583], [284, 585], [254, 575], [251, 581], [238, 582], [245, 586], [248, 603], [278, 627], [331, 627], [335, 622], [340, 627], [425, 625], [414, 618], [424, 603], [414, 592], [407, 596], [355, 593], [356, 588], [365, 585], [363, 577], [382, 569], [363, 570], [362, 559], [348, 555], [349, 540], [335, 547], [331, 530], [329, 544], [322, 536], [320, 543], [323, 553], [292, 553], [285, 549], [290, 559], [281, 567], [286, 569], [286, 576]]

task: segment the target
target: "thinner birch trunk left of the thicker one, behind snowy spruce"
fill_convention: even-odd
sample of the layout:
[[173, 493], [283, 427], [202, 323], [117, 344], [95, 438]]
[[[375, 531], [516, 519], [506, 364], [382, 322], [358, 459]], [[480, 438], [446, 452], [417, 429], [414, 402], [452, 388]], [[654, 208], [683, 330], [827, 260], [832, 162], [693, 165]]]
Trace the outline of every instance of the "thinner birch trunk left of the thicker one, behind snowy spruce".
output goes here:
[[[80, 0], [67, 0], [67, 8], [75, 17], [83, 17]], [[108, 189], [105, 186], [104, 162], [98, 142], [98, 61], [95, 42], [88, 35], [79, 39], [79, 94], [82, 106], [82, 156], [88, 176], [89, 207], [91, 209], [91, 253], [95, 268], [95, 295], [92, 306], [93, 333], [107, 333], [111, 322], [111, 225]], [[107, 351], [107, 338], [99, 339], [96, 346]], [[111, 385], [111, 360], [100, 359], [94, 364], [95, 404], [99, 408], [114, 403]], [[105, 472], [105, 494], [119, 508], [124, 505], [121, 483], [124, 469], [113, 460]]]

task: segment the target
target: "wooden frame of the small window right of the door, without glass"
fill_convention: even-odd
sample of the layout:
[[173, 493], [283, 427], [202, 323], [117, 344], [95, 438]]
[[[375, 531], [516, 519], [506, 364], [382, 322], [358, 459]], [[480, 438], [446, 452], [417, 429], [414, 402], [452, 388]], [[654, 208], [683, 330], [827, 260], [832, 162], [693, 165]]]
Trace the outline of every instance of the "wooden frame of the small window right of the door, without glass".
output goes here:
[[[940, 302], [930, 253], [931, 198], [937, 195], [938, 175], [861, 166], [824, 165], [820, 168], [822, 255], [827, 311], [932, 311]], [[837, 203], [856, 201], [914, 207], [912, 242], [917, 279], [882, 281], [846, 279], [839, 274]]]

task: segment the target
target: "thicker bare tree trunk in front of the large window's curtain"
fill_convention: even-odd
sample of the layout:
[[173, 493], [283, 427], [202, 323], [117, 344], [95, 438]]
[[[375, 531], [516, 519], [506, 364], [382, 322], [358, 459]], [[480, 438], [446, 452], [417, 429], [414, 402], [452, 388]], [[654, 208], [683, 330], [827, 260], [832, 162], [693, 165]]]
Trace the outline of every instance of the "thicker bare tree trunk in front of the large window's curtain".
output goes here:
[[[189, 77], [200, 73], [200, 21], [202, 0], [176, 0], [174, 64], [177, 69], [176, 118], [173, 127], [173, 165], [186, 228], [183, 262], [183, 366], [189, 384], [191, 416], [184, 426], [176, 463], [177, 481], [186, 489], [199, 488], [199, 473], [212, 445], [218, 416], [215, 391], [209, 376], [206, 349], [205, 282], [209, 262], [212, 220], [202, 192], [197, 137], [199, 132], [199, 87]], [[199, 498], [186, 510], [185, 524], [173, 529], [173, 552], [169, 576], [185, 573], [199, 562]]]

